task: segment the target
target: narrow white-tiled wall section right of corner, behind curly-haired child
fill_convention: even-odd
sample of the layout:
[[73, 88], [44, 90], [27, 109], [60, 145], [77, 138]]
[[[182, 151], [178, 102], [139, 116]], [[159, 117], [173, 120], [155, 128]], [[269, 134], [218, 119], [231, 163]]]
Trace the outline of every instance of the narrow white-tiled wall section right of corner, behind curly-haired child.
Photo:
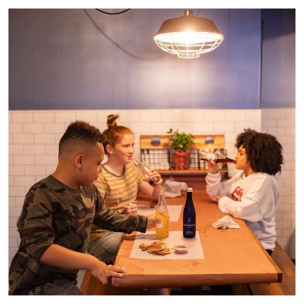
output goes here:
[[295, 109], [261, 109], [261, 132], [278, 138], [284, 164], [276, 175], [281, 198], [276, 206], [277, 241], [295, 258]]

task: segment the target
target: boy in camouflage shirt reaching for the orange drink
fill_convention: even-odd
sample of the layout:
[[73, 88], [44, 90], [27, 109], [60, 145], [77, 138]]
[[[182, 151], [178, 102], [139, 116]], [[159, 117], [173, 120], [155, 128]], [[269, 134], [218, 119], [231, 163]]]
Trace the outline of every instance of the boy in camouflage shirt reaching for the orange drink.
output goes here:
[[59, 142], [56, 171], [28, 191], [17, 226], [21, 238], [10, 271], [11, 294], [83, 294], [79, 269], [103, 284], [126, 270], [86, 254], [91, 225], [131, 233], [155, 226], [146, 216], [109, 209], [93, 185], [101, 172], [103, 136], [88, 123], [71, 123]]

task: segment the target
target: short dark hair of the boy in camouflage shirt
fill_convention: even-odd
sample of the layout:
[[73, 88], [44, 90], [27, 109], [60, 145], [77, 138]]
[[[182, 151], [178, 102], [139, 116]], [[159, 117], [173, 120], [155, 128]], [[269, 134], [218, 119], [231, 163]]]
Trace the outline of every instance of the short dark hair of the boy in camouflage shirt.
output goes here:
[[103, 144], [104, 136], [98, 128], [84, 121], [75, 121], [69, 124], [59, 141], [58, 157], [66, 156], [77, 148]]

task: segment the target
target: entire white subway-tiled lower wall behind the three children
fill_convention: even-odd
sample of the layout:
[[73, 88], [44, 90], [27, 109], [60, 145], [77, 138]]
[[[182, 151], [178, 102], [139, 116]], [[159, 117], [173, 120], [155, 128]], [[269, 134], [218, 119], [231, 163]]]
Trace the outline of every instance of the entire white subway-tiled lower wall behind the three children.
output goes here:
[[[34, 182], [56, 169], [58, 143], [68, 124], [80, 119], [103, 131], [111, 113], [120, 115], [118, 124], [133, 130], [137, 157], [141, 134], [166, 135], [170, 128], [192, 134], [224, 134], [230, 157], [236, 154], [236, 135], [244, 128], [277, 136], [285, 160], [282, 173], [276, 176], [281, 189], [277, 241], [295, 258], [295, 109], [43, 110], [9, 112], [9, 262], [20, 242], [16, 222], [24, 196]], [[234, 174], [234, 170], [230, 172]]]

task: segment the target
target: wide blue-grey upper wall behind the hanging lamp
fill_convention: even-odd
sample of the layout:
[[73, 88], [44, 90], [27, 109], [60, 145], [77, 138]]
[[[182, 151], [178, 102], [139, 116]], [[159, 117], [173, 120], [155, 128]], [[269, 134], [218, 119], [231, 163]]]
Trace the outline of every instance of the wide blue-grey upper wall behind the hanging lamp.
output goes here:
[[261, 10], [193, 11], [225, 38], [185, 60], [153, 40], [183, 10], [11, 9], [9, 109], [259, 108]]

